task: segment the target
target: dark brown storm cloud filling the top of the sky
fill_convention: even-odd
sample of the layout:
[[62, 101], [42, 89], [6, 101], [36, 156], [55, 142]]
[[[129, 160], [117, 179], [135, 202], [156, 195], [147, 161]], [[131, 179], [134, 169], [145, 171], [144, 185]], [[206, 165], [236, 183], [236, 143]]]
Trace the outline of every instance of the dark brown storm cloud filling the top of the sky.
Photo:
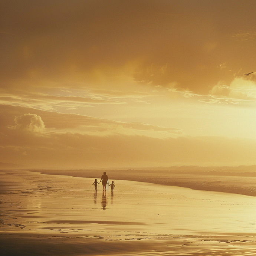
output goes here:
[[[253, 30], [255, 7], [252, 0], [1, 1], [1, 86], [93, 83], [95, 70], [114, 77], [132, 62], [136, 81], [207, 92], [240, 68], [250, 71], [255, 40], [232, 36]], [[217, 68], [223, 63], [227, 70]]]

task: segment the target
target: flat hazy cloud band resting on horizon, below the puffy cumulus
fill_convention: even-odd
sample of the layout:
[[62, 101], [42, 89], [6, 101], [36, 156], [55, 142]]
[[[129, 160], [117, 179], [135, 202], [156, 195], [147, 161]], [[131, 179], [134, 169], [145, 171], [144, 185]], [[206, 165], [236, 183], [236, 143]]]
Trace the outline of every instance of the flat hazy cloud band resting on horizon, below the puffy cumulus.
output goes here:
[[[13, 135], [16, 140], [12, 139]], [[159, 139], [143, 135], [100, 137], [52, 132], [44, 137], [31, 138], [23, 134], [17, 137], [9, 130], [2, 141], [0, 155], [6, 161], [15, 159], [16, 163], [33, 167], [55, 168], [250, 164], [256, 152], [255, 140], [221, 137]]]

